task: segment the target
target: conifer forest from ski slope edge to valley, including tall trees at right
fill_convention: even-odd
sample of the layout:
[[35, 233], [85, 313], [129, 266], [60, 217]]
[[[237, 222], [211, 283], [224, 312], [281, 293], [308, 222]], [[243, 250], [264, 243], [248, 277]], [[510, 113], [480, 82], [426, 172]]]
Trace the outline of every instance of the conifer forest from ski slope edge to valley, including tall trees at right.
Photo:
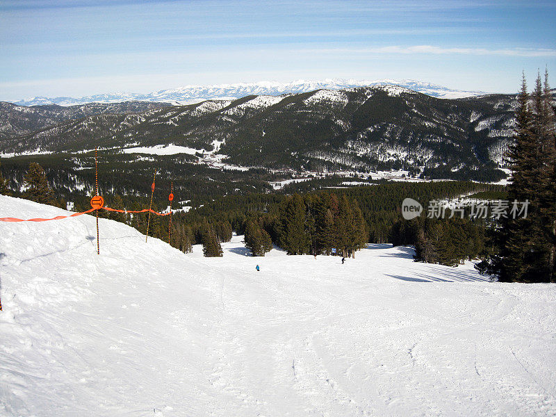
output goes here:
[[[284, 174], [263, 168], [219, 171], [190, 163], [195, 158], [175, 156], [158, 158], [156, 167], [152, 161], [133, 162], [133, 173], [122, 176], [118, 174], [120, 156], [112, 151], [101, 156], [99, 183], [101, 190], [113, 191], [106, 193], [107, 206], [134, 211], [148, 202], [145, 183], [152, 170], [167, 172], [159, 174], [154, 210], [168, 208], [165, 193], [170, 181], [176, 184], [182, 205], [189, 209], [173, 213], [172, 224], [168, 217], [154, 216], [149, 236], [170, 238], [170, 245], [186, 253], [193, 245], [202, 244], [205, 256], [222, 256], [220, 243], [228, 242], [234, 232], [245, 235], [245, 245], [254, 256], [264, 256], [275, 245], [291, 255], [354, 257], [367, 243], [393, 243], [414, 245], [415, 260], [426, 263], [457, 265], [466, 259], [480, 259], [480, 272], [500, 281], [554, 281], [555, 107], [548, 72], [544, 79], [537, 78], [532, 92], [523, 79], [517, 103], [515, 133], [504, 156], [512, 173], [507, 186], [465, 181], [391, 182], [373, 179], [372, 174], [352, 174], [347, 179], [354, 185], [343, 186], [346, 177], [334, 174], [286, 181], [273, 190], [268, 181], [280, 181]], [[80, 163], [90, 164], [90, 158], [84, 154]], [[94, 182], [94, 172], [75, 170], [70, 161], [57, 154], [3, 158], [1, 192], [60, 207], [71, 201], [75, 211], [85, 211], [90, 208], [93, 190], [87, 184]], [[76, 177], [83, 181], [81, 190], [70, 186]], [[358, 181], [366, 185], [357, 185]], [[130, 193], [141, 188], [142, 193]], [[401, 215], [405, 197], [426, 207], [439, 199], [461, 196], [486, 204], [527, 200], [528, 215], [473, 218], [469, 199], [465, 215], [434, 218], [423, 213], [412, 220]], [[450, 208], [447, 210], [450, 213]], [[99, 215], [147, 232], [145, 215], [104, 211]]]

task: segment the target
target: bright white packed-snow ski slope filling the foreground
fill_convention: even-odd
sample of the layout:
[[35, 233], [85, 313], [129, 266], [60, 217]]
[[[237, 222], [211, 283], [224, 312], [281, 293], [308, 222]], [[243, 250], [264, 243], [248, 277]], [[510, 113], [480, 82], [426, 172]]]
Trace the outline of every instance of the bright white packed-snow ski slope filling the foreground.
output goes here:
[[556, 414], [554, 284], [240, 240], [210, 259], [101, 219], [97, 255], [90, 215], [0, 223], [0, 416]]

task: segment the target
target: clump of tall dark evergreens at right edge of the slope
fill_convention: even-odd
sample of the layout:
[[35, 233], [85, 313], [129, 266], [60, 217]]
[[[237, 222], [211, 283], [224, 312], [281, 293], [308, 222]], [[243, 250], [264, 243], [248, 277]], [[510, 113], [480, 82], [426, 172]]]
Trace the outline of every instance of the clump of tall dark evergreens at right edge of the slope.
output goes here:
[[528, 200], [528, 216], [502, 218], [493, 233], [498, 253], [477, 265], [500, 281], [554, 281], [556, 138], [548, 74], [537, 76], [532, 97], [525, 76], [518, 97], [515, 143], [509, 149], [510, 202]]

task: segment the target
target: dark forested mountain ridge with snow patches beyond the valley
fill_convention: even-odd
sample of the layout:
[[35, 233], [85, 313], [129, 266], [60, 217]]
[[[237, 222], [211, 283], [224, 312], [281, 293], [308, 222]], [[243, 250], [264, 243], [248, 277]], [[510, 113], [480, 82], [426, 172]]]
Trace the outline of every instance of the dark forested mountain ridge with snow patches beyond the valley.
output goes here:
[[497, 167], [513, 134], [515, 100], [515, 95], [436, 99], [395, 85], [247, 96], [65, 120], [3, 138], [0, 150], [173, 144], [218, 152], [236, 165], [403, 168], [424, 170], [428, 177], [492, 180], [503, 176]]

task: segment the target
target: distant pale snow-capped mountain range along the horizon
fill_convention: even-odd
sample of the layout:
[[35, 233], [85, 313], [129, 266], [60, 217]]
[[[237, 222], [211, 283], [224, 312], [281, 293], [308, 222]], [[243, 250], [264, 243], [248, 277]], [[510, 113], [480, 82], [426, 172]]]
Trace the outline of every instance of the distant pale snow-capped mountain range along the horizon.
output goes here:
[[[38, 106], [42, 104], [58, 104], [59, 106], [74, 106], [86, 103], [117, 103], [121, 101], [158, 101], [172, 104], [195, 104], [211, 99], [234, 100], [248, 95], [283, 95], [299, 94], [314, 90], [343, 90], [345, 88], [368, 87], [379, 85], [400, 85], [432, 97], [442, 99], [458, 99], [485, 95], [482, 91], [454, 90], [432, 83], [415, 80], [354, 80], [354, 79], [325, 79], [320, 81], [297, 80], [291, 83], [276, 81], [259, 81], [256, 83], [234, 83], [218, 85], [186, 85], [170, 90], [138, 94], [132, 92], [115, 92], [85, 97], [31, 97], [10, 102], [19, 106]], [[9, 100], [8, 100], [9, 101]]]

